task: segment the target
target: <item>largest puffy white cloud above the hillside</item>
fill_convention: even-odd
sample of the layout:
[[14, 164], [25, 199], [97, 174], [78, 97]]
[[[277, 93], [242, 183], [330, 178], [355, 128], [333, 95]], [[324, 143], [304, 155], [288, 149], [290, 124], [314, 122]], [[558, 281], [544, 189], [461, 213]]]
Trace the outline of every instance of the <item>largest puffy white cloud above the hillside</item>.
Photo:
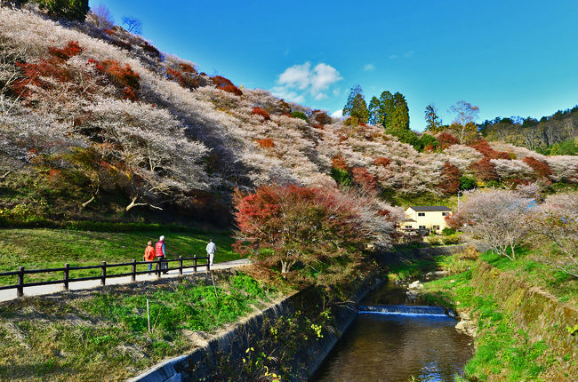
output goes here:
[[340, 73], [331, 65], [321, 62], [315, 68], [311, 68], [311, 63], [307, 61], [286, 68], [277, 78], [277, 86], [273, 88], [273, 93], [293, 102], [303, 101], [306, 94], [316, 100], [325, 99], [326, 92], [341, 79]]

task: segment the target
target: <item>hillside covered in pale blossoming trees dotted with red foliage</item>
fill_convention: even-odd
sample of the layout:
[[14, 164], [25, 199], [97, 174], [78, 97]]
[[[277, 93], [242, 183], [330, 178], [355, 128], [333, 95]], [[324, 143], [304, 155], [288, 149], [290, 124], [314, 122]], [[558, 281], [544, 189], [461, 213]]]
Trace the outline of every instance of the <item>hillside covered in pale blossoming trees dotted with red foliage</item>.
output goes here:
[[[578, 183], [578, 157], [447, 134], [418, 152], [158, 52], [115, 27], [0, 8], [0, 219], [229, 224], [234, 189], [357, 187], [389, 201]], [[395, 199], [397, 198], [397, 199]], [[181, 217], [181, 218], [179, 218]]]

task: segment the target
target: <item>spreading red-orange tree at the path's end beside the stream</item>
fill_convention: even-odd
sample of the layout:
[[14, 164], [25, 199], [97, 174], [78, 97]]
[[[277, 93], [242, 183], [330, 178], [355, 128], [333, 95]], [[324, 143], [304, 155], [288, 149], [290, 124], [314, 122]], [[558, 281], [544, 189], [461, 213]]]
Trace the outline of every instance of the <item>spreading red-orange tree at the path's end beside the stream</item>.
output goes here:
[[317, 274], [345, 275], [367, 244], [389, 246], [395, 235], [383, 206], [337, 189], [263, 186], [237, 192], [234, 203], [237, 251], [284, 277], [293, 269], [315, 282]]

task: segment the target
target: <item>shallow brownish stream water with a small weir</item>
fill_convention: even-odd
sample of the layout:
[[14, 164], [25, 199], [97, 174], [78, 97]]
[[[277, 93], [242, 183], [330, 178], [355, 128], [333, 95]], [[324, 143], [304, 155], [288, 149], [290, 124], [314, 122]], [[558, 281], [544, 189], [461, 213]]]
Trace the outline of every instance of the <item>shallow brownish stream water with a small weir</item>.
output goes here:
[[438, 310], [424, 314], [423, 301], [408, 299], [401, 287], [385, 285], [362, 304], [416, 306], [413, 310], [421, 313], [390, 307], [360, 312], [314, 381], [451, 381], [472, 355], [471, 338], [454, 329], [453, 318]]

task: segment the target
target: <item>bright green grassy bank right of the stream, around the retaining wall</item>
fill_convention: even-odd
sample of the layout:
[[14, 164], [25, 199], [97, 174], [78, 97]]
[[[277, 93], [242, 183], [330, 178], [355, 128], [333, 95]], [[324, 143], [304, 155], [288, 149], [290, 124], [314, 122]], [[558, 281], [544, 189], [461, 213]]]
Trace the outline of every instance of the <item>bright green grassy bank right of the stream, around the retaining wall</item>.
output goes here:
[[[528, 257], [529, 252], [514, 262], [508, 259], [496, 258], [492, 253], [480, 256], [485, 261], [491, 261], [501, 266], [504, 272], [510, 272], [516, 278], [528, 285], [550, 285], [550, 290], [557, 293], [560, 300], [568, 298], [567, 302], [576, 303], [573, 297], [575, 290], [570, 292], [574, 281], [552, 282], [557, 278], [551, 275], [551, 269], [529, 266], [533, 264]], [[470, 314], [478, 323], [476, 338], [476, 353], [465, 367], [469, 380], [552, 380], [552, 372], [567, 368], [566, 362], [573, 354], [558, 354], [551, 349], [546, 341], [530, 336], [516, 323], [514, 314], [517, 309], [507, 310], [502, 301], [493, 295], [478, 293], [477, 285], [472, 281], [476, 260], [461, 259], [460, 256], [445, 259], [446, 269], [464, 268], [461, 273], [447, 276], [425, 283], [426, 298], [434, 305], [453, 306], [454, 309]], [[468, 269], [470, 268], [470, 269]], [[498, 271], [496, 271], [498, 272]], [[502, 270], [500, 271], [502, 272]], [[494, 274], [494, 277], [497, 275]], [[545, 283], [550, 280], [550, 283]], [[512, 290], [512, 293], [515, 290]], [[573, 300], [574, 298], [574, 300]], [[535, 317], [528, 317], [533, 320]], [[544, 331], [543, 336], [548, 333]], [[570, 334], [568, 334], [570, 335]], [[543, 338], [542, 336], [542, 338]], [[566, 373], [566, 378], [569, 376]], [[572, 380], [571, 377], [568, 380]]]

